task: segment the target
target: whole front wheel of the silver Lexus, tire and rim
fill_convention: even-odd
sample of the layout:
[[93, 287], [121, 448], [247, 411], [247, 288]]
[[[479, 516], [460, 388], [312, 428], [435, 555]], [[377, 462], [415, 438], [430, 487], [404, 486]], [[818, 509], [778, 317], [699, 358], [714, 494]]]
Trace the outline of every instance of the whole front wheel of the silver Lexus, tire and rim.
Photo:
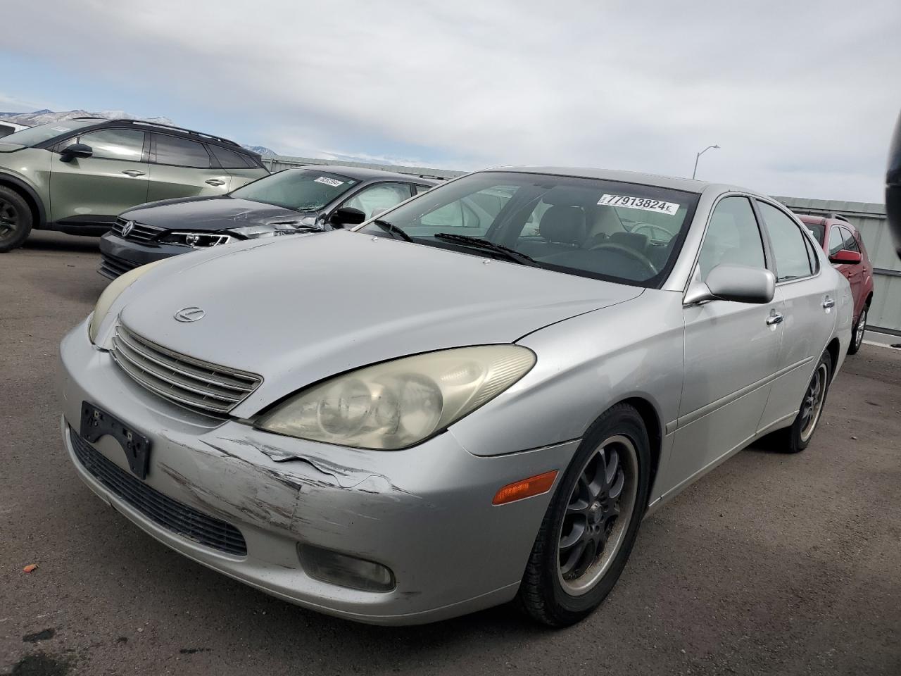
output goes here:
[[551, 500], [520, 585], [534, 619], [569, 626], [613, 589], [648, 502], [651, 449], [642, 416], [608, 409], [588, 430]]

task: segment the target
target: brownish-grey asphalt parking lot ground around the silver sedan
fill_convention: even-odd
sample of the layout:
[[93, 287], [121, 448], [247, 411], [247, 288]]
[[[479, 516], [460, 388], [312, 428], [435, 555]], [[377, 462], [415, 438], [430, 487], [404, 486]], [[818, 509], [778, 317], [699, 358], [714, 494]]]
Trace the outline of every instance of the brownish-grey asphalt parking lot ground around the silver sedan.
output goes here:
[[582, 624], [362, 626], [187, 561], [77, 479], [54, 379], [96, 246], [0, 255], [0, 673], [901, 674], [901, 352], [845, 362], [805, 452], [758, 444], [647, 519]]

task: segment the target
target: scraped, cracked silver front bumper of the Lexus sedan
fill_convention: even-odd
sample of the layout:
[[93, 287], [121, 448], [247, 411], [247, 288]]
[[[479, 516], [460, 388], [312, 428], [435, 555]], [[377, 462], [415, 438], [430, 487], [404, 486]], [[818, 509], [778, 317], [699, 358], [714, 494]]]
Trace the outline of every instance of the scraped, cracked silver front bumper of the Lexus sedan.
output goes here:
[[[137, 386], [77, 326], [60, 347], [59, 389], [69, 458], [104, 501], [160, 542], [274, 596], [332, 615], [415, 624], [514, 597], [551, 494], [493, 507], [514, 480], [565, 467], [576, 443], [477, 457], [452, 432], [405, 451], [377, 452], [268, 434], [235, 421], [205, 423]], [[247, 554], [212, 549], [151, 521], [77, 460], [69, 429], [80, 405], [104, 408], [150, 437], [153, 489], [237, 527]], [[110, 436], [93, 444], [128, 470]], [[286, 460], [289, 458], [289, 460]], [[387, 565], [396, 589], [359, 591], [314, 580], [297, 544]]]

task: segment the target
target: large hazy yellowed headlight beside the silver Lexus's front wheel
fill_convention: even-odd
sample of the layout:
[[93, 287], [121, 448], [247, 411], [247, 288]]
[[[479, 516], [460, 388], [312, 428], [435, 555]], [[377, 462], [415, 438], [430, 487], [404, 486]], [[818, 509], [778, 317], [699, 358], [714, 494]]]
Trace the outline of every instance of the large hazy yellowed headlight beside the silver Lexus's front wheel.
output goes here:
[[393, 451], [471, 413], [535, 363], [518, 345], [417, 354], [351, 371], [290, 397], [256, 425], [310, 441]]

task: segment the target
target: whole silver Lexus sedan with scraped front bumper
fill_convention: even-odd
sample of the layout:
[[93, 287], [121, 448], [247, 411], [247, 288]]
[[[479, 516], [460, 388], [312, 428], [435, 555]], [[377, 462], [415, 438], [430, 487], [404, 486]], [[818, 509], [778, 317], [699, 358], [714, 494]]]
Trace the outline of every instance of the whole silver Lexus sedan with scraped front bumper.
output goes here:
[[764, 435], [811, 442], [851, 311], [767, 196], [481, 171], [115, 280], [63, 340], [62, 434], [123, 516], [279, 598], [565, 626], [653, 509]]

